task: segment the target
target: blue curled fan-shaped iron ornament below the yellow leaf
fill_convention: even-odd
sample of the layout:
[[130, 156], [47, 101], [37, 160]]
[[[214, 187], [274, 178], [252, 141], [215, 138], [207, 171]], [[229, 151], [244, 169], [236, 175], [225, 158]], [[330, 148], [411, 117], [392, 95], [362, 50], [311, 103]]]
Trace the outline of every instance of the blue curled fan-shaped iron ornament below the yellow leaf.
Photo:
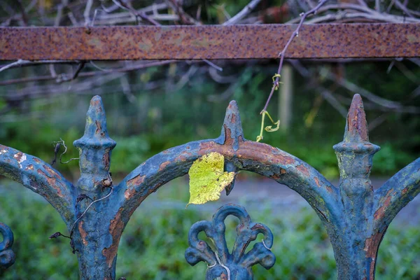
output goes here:
[[[237, 238], [229, 253], [225, 239], [225, 218], [229, 215], [239, 218], [237, 225]], [[214, 243], [214, 250], [207, 242], [198, 239], [198, 234], [205, 232]], [[245, 253], [249, 243], [255, 240], [258, 234], [264, 235], [261, 242]], [[186, 250], [186, 260], [190, 265], [198, 262], [207, 262], [209, 269], [206, 272], [207, 280], [252, 280], [251, 267], [256, 264], [269, 269], [276, 262], [276, 257], [271, 251], [273, 235], [271, 230], [262, 223], [252, 223], [244, 207], [227, 204], [219, 208], [211, 221], [195, 223], [188, 233], [190, 247]]]

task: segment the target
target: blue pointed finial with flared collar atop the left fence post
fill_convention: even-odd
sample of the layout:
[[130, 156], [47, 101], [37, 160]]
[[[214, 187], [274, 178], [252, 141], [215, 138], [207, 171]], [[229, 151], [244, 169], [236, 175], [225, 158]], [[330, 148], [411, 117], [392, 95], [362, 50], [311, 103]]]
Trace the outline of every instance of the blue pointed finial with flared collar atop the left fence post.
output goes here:
[[85, 134], [82, 138], [74, 141], [74, 146], [81, 148], [85, 146], [114, 148], [116, 141], [109, 137], [106, 130], [106, 116], [104, 104], [99, 95], [90, 100], [89, 110], [86, 114]]

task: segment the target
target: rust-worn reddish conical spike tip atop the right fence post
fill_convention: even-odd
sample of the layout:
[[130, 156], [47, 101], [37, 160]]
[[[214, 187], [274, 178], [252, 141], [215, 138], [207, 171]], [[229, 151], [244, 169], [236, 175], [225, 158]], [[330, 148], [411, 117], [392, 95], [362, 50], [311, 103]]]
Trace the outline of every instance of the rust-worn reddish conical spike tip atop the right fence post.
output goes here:
[[368, 142], [366, 113], [360, 94], [354, 94], [346, 119], [344, 142]]

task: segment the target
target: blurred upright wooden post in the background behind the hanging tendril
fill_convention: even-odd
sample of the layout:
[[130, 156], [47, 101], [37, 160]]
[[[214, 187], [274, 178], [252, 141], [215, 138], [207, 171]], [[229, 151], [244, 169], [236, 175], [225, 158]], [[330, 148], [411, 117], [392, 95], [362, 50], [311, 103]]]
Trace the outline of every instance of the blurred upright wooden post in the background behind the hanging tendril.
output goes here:
[[288, 130], [292, 120], [292, 99], [293, 99], [293, 69], [286, 64], [281, 73], [279, 116], [281, 130]]

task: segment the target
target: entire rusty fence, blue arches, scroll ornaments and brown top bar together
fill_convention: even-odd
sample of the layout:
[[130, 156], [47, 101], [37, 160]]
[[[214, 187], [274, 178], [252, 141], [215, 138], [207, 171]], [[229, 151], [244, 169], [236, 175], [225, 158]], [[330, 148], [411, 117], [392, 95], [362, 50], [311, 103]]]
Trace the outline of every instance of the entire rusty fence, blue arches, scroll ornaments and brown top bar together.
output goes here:
[[[0, 29], [0, 59], [272, 57], [272, 52], [278, 51], [278, 45], [276, 32], [270, 29], [281, 30], [289, 27], [225, 27], [230, 28], [232, 32], [238, 32], [239, 35], [235, 35], [236, 39], [239, 38], [239, 41], [236, 41], [238, 45], [241, 45], [240, 38], [246, 37], [249, 32], [253, 35], [260, 34], [255, 29], [267, 29], [266, 35], [271, 36], [268, 39], [261, 38], [272, 40], [265, 45], [267, 49], [261, 48], [261, 44], [256, 48], [254, 36], [252, 42], [246, 43], [249, 46], [254, 45], [254, 48], [249, 50], [242, 45], [233, 55], [225, 44], [229, 41], [226, 36], [234, 35], [225, 33], [225, 37], [213, 37], [221, 32], [219, 27], [188, 27], [190, 30], [178, 33], [174, 29], [184, 27], [157, 28], [147, 27], [143, 31], [140, 27], [120, 28], [117, 31], [111, 28]], [[310, 31], [311, 28], [316, 30]], [[330, 50], [325, 50], [322, 45], [319, 46], [319, 50], [307, 49], [307, 45], [299, 45], [300, 41], [297, 41], [290, 47], [293, 48], [290, 51], [291, 57], [304, 57], [305, 55], [300, 54], [308, 53], [309, 57], [420, 56], [420, 37], [413, 36], [420, 33], [420, 25], [331, 25], [309, 26], [302, 30], [307, 30], [312, 36], [318, 34], [317, 36], [322, 38], [320, 34], [328, 32], [328, 29], [346, 28], [356, 28], [359, 32], [364, 30], [364, 33], [358, 34], [354, 31], [356, 33], [350, 35], [347, 42], [353, 50], [343, 43], [346, 40], [337, 41], [338, 45], [332, 46]], [[357, 42], [366, 42], [363, 40], [370, 38], [377, 28], [400, 31], [390, 33], [384, 39], [390, 41], [379, 42], [377, 48], [369, 48], [377, 41], [368, 43], [365, 48], [357, 45]], [[110, 38], [106, 34], [110, 34], [111, 31], [115, 32]], [[229, 29], [225, 31], [228, 32]], [[117, 51], [115, 45], [108, 43], [118, 41], [124, 32], [137, 32], [138, 34], [133, 36], [146, 43], [134, 44], [127, 52]], [[17, 36], [23, 36], [21, 38], [27, 40], [27, 45], [20, 44], [16, 48], [13, 40]], [[74, 44], [68, 44], [69, 48], [63, 48], [62, 45], [59, 47], [60, 42], [55, 40], [55, 36], [64, 36]], [[45, 38], [49, 38], [50, 41], [44, 41]], [[150, 40], [145, 41], [147, 38]], [[383, 37], [371, 37], [372, 40], [381, 38]], [[164, 44], [162, 48], [151, 52], [152, 46], [154, 48], [159, 40], [169, 45]], [[203, 40], [207, 42], [205, 45], [197, 45], [197, 42]], [[76, 42], [82, 42], [84, 47], [77, 46]], [[125, 43], [130, 45], [132, 42]], [[176, 42], [179, 42], [179, 48], [173, 47]], [[307, 42], [314, 43], [311, 39], [307, 39]], [[317, 42], [322, 43], [322, 40]], [[352, 43], [356, 45], [351, 45]], [[29, 51], [30, 46], [33, 48]], [[225, 168], [228, 171], [246, 170], [267, 176], [292, 188], [307, 200], [328, 232], [337, 261], [339, 279], [374, 279], [377, 252], [388, 225], [398, 211], [420, 191], [420, 158], [392, 176], [381, 188], [373, 190], [369, 176], [372, 158], [374, 153], [379, 151], [379, 146], [369, 141], [365, 111], [358, 94], [353, 97], [346, 118], [344, 139], [334, 146], [339, 165], [339, 186], [333, 186], [313, 167], [279, 148], [246, 140], [235, 101], [230, 102], [226, 110], [220, 137], [169, 148], [143, 162], [120, 183], [113, 182], [109, 173], [111, 151], [116, 142], [109, 137], [106, 130], [106, 116], [100, 97], [92, 98], [90, 109], [87, 111], [85, 134], [74, 141], [73, 145], [80, 153], [80, 179], [76, 185], [67, 181], [48, 163], [8, 146], [0, 146], [0, 174], [43, 196], [62, 216], [70, 232], [73, 253], [78, 257], [80, 279], [115, 279], [118, 244], [133, 212], [148, 195], [172, 179], [187, 174], [197, 158], [211, 152], [221, 153], [225, 157]], [[92, 198], [94, 202], [84, 199], [86, 197]], [[229, 253], [225, 241], [224, 220], [229, 215], [237, 216], [240, 221], [232, 253]], [[8, 267], [13, 265], [15, 260], [12, 251], [13, 232], [2, 223], [0, 232], [3, 235], [3, 241], [0, 243], [0, 265]], [[207, 244], [198, 239], [200, 232], [204, 232], [214, 244]], [[264, 235], [262, 241], [245, 253], [248, 244], [255, 240], [259, 233]], [[58, 235], [61, 234], [57, 233], [55, 237]], [[209, 269], [206, 279], [252, 279], [251, 266], [260, 264], [269, 269], [275, 262], [275, 256], [271, 252], [275, 244], [273, 233], [265, 225], [253, 223], [245, 209], [236, 205], [225, 205], [217, 211], [211, 221], [201, 221], [193, 225], [188, 238], [190, 247], [186, 250], [186, 260], [190, 265], [200, 261], [207, 262]]]

